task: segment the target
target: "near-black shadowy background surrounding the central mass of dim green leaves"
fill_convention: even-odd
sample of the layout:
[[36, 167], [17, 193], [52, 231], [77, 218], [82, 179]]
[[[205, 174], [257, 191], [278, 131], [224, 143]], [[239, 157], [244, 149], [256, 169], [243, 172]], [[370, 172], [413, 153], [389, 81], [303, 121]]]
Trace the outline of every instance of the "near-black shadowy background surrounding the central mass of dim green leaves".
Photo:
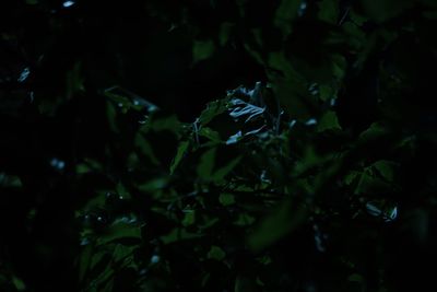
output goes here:
[[[351, 165], [361, 170], [379, 159], [398, 163], [401, 190], [367, 190], [364, 197], [386, 196], [403, 211], [400, 222], [389, 227], [341, 218], [343, 213], [321, 221], [333, 238], [324, 257], [307, 245], [314, 241], [308, 223], [299, 231], [302, 241], [290, 245], [295, 237], [287, 238], [274, 247], [290, 252], [274, 260], [297, 280], [281, 282], [272, 276], [272, 283], [277, 280], [282, 287], [264, 291], [415, 291], [435, 285], [435, 1], [72, 2], [0, 3], [0, 290], [94, 291], [78, 282], [83, 230], [78, 212], [93, 198], [96, 185], [113, 186], [125, 177], [127, 149], [138, 130], [134, 118], [144, 114], [126, 115], [120, 125], [137, 126], [114, 132], [107, 89], [117, 86], [129, 98], [140, 96], [192, 122], [208, 102], [257, 81], [271, 85], [291, 119], [304, 124], [328, 109], [335, 113], [342, 128], [335, 142], [324, 147], [330, 135], [308, 139], [321, 151], [354, 149], [373, 122], [387, 126], [385, 137], [354, 152], [351, 160], [356, 164]], [[276, 51], [284, 59], [274, 61]], [[321, 90], [314, 97], [308, 90], [314, 83], [328, 89], [329, 98]], [[150, 143], [174, 151], [160, 139]], [[401, 142], [411, 148], [392, 151]], [[106, 166], [94, 177], [79, 177], [76, 166], [85, 159]], [[321, 208], [352, 208], [349, 199], [339, 198]], [[354, 241], [356, 234], [365, 241]], [[351, 269], [367, 280], [359, 287], [358, 280], [351, 280], [335, 290], [351, 273], [342, 264], [344, 250], [362, 265]], [[175, 252], [173, 262], [180, 254]], [[252, 259], [241, 257], [250, 266]], [[309, 264], [291, 265], [296, 258]], [[193, 260], [187, 255], [180, 262]], [[211, 270], [220, 275], [222, 268], [226, 270]], [[247, 268], [236, 264], [232, 272], [239, 269]], [[326, 270], [333, 278], [327, 279]], [[321, 284], [312, 285], [308, 275]], [[174, 290], [156, 291], [198, 289], [185, 282], [186, 276], [173, 275]], [[143, 290], [123, 290], [116, 283], [114, 291]]]

